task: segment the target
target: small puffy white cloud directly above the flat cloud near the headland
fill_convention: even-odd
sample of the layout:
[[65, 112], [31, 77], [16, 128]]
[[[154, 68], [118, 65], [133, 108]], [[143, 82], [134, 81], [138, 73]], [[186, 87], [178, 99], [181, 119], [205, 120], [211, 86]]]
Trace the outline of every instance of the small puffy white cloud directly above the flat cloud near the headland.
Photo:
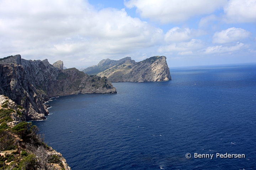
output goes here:
[[167, 31], [164, 36], [164, 40], [173, 42], [187, 41], [202, 34], [203, 32], [201, 30], [198, 31], [189, 28], [181, 29], [179, 27], [174, 27]]

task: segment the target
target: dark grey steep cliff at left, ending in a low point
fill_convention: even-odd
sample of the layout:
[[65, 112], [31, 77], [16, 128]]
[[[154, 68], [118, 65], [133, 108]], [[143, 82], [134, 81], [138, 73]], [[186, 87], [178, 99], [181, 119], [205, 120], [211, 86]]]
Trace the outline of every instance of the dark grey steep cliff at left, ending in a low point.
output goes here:
[[28, 61], [20, 55], [0, 59], [0, 94], [26, 109], [26, 120], [45, 119], [44, 101], [50, 97], [72, 94], [111, 94], [111, 82], [88, 76], [77, 69], [61, 70], [46, 60]]

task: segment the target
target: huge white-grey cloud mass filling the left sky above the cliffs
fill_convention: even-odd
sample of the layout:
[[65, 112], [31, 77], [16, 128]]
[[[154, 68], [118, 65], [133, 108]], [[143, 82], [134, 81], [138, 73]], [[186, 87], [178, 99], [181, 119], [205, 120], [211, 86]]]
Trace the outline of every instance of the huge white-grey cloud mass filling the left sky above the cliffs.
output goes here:
[[2, 0], [0, 37], [2, 57], [20, 53], [23, 58], [64, 60], [74, 66], [77, 61], [90, 65], [95, 58], [119, 59], [158, 44], [164, 35], [124, 9], [97, 11], [84, 0]]

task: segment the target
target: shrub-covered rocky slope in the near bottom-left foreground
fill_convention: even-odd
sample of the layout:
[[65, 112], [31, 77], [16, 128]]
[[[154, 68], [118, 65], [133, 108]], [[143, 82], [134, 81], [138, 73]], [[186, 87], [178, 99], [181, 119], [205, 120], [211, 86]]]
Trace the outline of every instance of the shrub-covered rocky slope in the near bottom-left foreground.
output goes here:
[[0, 169], [71, 170], [62, 154], [25, 122], [26, 109], [0, 95]]

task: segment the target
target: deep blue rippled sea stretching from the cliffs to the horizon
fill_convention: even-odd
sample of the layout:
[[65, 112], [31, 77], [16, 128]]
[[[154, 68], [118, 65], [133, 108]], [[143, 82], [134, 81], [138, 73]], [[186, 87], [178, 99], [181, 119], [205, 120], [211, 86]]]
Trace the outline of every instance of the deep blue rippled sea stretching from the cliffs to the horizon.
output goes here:
[[170, 73], [113, 83], [117, 94], [52, 98], [50, 115], [33, 124], [72, 170], [256, 169], [256, 64]]

